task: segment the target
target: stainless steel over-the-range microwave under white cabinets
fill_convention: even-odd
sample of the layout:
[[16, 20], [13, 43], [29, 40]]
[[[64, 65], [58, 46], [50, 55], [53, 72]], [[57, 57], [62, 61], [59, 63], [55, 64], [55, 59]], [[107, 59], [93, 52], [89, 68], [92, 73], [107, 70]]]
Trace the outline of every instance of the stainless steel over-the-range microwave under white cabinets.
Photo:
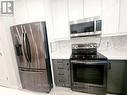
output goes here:
[[100, 18], [87, 18], [77, 22], [70, 22], [70, 36], [84, 37], [91, 35], [100, 35], [102, 32], [102, 20]]

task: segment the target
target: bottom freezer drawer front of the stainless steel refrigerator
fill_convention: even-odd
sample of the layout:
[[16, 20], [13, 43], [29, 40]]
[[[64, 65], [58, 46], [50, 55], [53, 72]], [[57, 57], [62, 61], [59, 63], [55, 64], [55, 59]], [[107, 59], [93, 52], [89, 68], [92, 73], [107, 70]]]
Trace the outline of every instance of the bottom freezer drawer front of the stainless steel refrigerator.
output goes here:
[[19, 71], [23, 89], [49, 92], [50, 85], [47, 79], [47, 70], [41, 72]]

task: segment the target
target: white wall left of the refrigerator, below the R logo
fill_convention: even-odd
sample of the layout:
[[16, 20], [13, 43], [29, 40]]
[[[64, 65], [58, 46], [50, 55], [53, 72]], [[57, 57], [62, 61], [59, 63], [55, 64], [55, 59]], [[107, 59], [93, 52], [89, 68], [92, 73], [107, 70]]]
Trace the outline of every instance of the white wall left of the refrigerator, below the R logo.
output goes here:
[[0, 16], [0, 44], [3, 57], [3, 60], [0, 60], [0, 75], [3, 74], [3, 77], [6, 78], [6, 81], [0, 80], [0, 83], [4, 86], [17, 88], [20, 86], [20, 81], [10, 33], [10, 26], [13, 23], [13, 16]]

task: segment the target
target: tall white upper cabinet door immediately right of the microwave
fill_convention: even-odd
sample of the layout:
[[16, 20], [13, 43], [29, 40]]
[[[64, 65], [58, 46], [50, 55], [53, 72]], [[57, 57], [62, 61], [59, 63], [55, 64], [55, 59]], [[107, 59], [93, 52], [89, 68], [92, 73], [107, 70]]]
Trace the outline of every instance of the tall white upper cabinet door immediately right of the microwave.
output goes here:
[[118, 33], [119, 0], [103, 0], [102, 34]]

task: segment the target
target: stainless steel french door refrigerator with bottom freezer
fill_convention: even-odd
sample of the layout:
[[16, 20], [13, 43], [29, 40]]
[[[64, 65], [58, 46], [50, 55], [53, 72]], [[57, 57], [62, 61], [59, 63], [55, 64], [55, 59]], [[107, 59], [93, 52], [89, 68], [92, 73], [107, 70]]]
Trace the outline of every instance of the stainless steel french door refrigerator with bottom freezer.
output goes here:
[[45, 22], [10, 27], [23, 89], [49, 92], [52, 88]]

